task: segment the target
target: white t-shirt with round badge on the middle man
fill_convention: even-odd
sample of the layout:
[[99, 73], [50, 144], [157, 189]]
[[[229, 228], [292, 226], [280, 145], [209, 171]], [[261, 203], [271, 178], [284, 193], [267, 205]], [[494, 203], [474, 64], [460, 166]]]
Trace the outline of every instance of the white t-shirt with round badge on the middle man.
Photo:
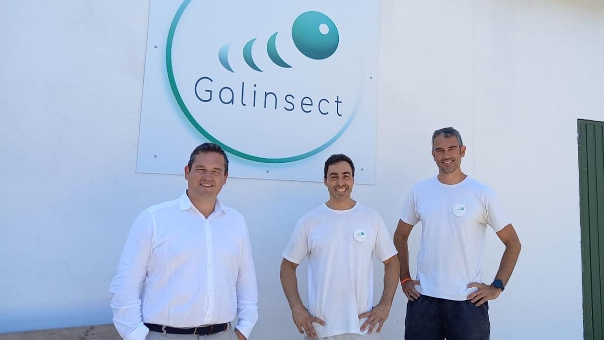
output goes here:
[[396, 255], [384, 220], [366, 206], [333, 210], [322, 204], [294, 228], [283, 258], [308, 257], [308, 310], [325, 321], [313, 324], [319, 338], [361, 332], [359, 314], [373, 307], [373, 260]]

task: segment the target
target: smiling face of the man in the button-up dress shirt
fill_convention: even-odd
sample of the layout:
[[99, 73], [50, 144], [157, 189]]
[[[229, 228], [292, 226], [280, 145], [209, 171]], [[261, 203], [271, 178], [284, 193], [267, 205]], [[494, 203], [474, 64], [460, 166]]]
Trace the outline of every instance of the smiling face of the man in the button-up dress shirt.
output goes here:
[[200, 152], [193, 165], [185, 166], [189, 195], [199, 198], [216, 198], [226, 183], [225, 159], [218, 152]]

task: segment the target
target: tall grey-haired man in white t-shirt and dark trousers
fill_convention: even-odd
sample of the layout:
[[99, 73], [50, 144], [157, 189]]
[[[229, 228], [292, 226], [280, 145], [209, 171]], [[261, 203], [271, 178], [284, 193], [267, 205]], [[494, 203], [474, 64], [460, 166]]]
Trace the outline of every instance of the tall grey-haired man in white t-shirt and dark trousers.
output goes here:
[[[503, 292], [518, 260], [520, 241], [495, 192], [461, 172], [466, 146], [454, 128], [432, 135], [439, 175], [417, 183], [405, 201], [394, 244], [400, 283], [409, 299], [406, 340], [489, 339], [488, 300]], [[409, 273], [407, 240], [422, 222], [416, 280]], [[506, 250], [492, 284], [482, 283], [486, 227]]]

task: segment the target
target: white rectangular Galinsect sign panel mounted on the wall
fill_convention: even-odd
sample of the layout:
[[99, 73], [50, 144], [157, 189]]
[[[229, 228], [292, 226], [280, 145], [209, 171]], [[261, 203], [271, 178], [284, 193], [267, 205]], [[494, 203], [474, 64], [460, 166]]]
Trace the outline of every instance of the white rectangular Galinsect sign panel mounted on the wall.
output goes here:
[[377, 1], [152, 1], [137, 172], [203, 142], [230, 176], [322, 181], [344, 153], [374, 183]]

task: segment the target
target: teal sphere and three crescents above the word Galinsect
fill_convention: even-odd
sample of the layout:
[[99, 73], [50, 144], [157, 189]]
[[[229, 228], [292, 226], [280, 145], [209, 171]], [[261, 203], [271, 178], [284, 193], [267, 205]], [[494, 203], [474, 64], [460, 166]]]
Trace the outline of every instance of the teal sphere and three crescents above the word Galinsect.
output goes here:
[[[275, 65], [283, 68], [291, 68], [291, 65], [285, 62], [277, 51], [278, 33], [278, 31], [273, 33], [271, 38], [268, 39], [268, 42], [266, 43], [266, 53]], [[254, 46], [256, 39], [257, 38], [251, 39], [243, 47], [243, 59], [252, 70], [262, 72], [254, 62], [254, 57], [252, 57], [252, 47]], [[295, 19], [294, 24], [292, 25], [292, 40], [298, 48], [298, 51], [304, 54], [304, 56], [317, 60], [326, 59], [338, 48], [338, 28], [329, 16], [318, 11], [307, 11]], [[231, 44], [233, 44], [233, 42], [228, 42], [220, 47], [218, 59], [220, 60], [222, 67], [234, 73], [233, 68], [231, 68], [228, 61], [228, 52], [231, 48]]]

